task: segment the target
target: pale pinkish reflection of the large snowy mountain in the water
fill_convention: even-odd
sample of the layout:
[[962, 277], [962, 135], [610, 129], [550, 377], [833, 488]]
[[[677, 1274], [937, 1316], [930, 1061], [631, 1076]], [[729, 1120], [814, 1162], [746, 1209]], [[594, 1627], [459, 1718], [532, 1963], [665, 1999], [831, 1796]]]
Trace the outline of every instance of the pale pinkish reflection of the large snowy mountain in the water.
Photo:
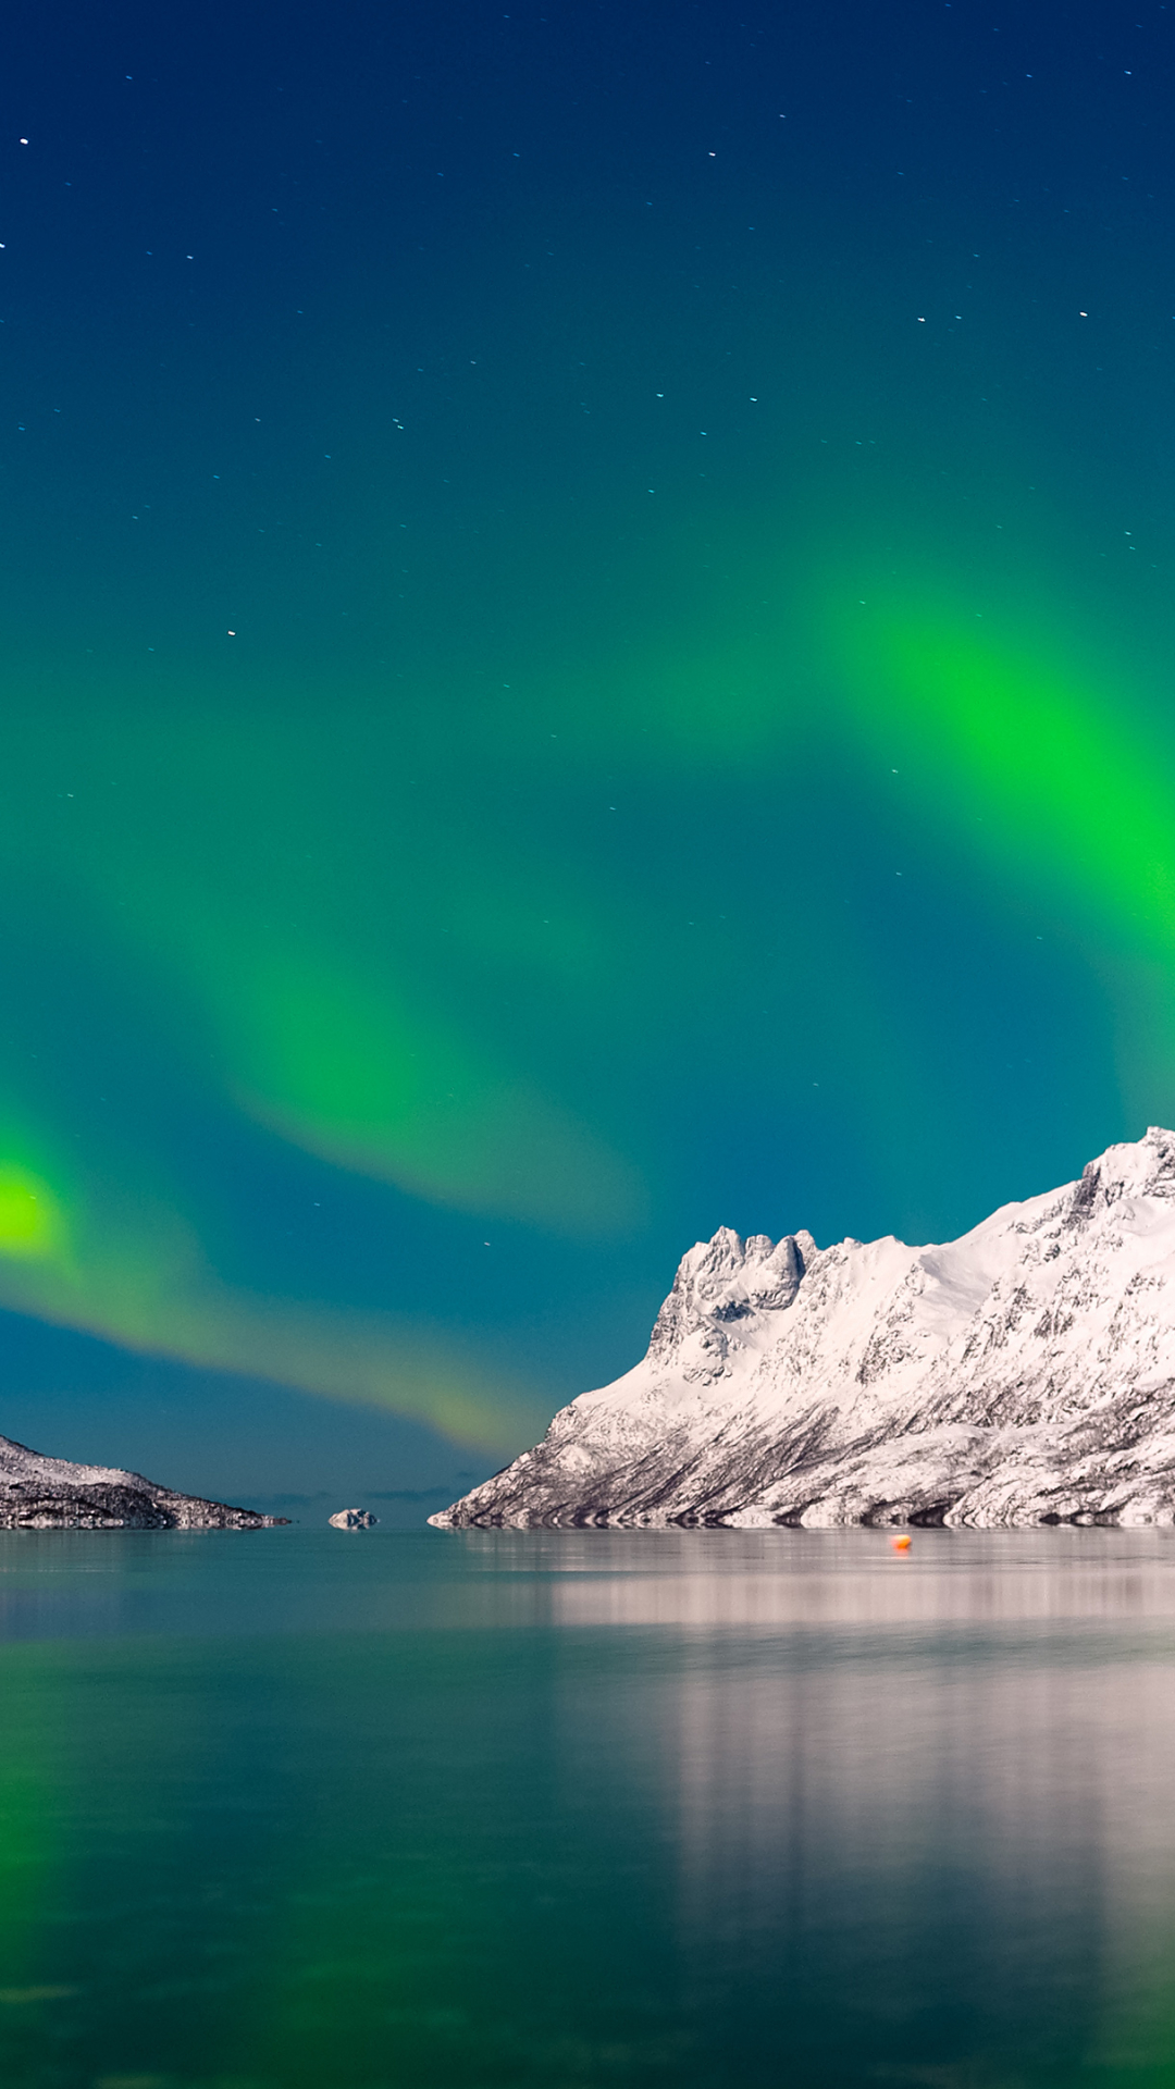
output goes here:
[[679, 1636], [652, 1696], [690, 2014], [822, 2081], [1175, 2076], [1171, 1540], [673, 1565], [585, 1548], [552, 1615]]

